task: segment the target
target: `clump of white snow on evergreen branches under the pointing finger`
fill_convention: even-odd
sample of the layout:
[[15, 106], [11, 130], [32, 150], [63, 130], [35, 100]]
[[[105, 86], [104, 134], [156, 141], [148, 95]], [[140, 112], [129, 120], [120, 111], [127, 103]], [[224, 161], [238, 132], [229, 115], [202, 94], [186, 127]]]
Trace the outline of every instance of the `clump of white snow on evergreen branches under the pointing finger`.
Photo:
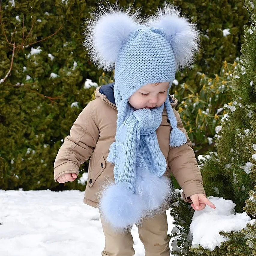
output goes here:
[[194, 247], [199, 244], [203, 248], [213, 251], [222, 241], [227, 240], [218, 234], [219, 231], [238, 231], [252, 222], [245, 212], [235, 214], [235, 203], [231, 200], [213, 196], [208, 199], [216, 206], [216, 209], [206, 205], [205, 209], [195, 211], [190, 231], [193, 234], [192, 245]]

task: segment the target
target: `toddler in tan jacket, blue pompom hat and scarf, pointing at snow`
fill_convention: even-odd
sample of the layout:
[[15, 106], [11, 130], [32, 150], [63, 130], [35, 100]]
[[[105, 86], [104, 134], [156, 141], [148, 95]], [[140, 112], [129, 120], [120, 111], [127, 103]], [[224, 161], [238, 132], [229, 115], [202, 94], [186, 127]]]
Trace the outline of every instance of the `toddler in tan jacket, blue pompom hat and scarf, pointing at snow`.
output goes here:
[[199, 49], [199, 32], [170, 4], [146, 20], [138, 10], [100, 6], [88, 21], [84, 45], [115, 82], [96, 89], [65, 137], [54, 163], [56, 182], [74, 181], [89, 160], [84, 203], [99, 208], [102, 255], [134, 255], [136, 224], [146, 256], [169, 256], [166, 210], [170, 174], [194, 210], [207, 199], [191, 141], [168, 92], [178, 68]]

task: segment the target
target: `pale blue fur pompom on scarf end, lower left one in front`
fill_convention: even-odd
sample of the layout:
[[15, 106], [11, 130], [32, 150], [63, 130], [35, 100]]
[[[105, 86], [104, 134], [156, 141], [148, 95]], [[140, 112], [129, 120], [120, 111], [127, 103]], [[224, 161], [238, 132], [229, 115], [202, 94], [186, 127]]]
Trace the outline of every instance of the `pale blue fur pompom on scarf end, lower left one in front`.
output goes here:
[[126, 184], [113, 183], [101, 194], [99, 210], [101, 216], [114, 230], [125, 231], [134, 223], [139, 223], [144, 204], [137, 194], [133, 194]]

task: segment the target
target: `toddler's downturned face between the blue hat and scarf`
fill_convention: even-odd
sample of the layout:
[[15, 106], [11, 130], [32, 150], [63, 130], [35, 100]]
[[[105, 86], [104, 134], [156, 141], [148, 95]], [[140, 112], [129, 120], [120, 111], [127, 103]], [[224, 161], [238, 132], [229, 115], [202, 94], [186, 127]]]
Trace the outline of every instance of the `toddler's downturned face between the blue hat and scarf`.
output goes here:
[[167, 98], [169, 82], [148, 83], [128, 99], [135, 109], [160, 107]]

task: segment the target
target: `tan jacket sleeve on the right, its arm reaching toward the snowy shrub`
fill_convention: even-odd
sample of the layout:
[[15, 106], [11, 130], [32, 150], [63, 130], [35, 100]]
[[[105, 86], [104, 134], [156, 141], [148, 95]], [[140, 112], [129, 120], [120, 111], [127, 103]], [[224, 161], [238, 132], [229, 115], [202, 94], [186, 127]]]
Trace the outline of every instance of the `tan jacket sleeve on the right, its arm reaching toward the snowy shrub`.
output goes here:
[[182, 196], [184, 201], [191, 202], [191, 195], [199, 193], [205, 194], [203, 180], [192, 148], [192, 143], [183, 127], [179, 112], [174, 108], [173, 111], [177, 119], [177, 127], [185, 133], [188, 143], [180, 147], [169, 147], [168, 166], [183, 190]]

